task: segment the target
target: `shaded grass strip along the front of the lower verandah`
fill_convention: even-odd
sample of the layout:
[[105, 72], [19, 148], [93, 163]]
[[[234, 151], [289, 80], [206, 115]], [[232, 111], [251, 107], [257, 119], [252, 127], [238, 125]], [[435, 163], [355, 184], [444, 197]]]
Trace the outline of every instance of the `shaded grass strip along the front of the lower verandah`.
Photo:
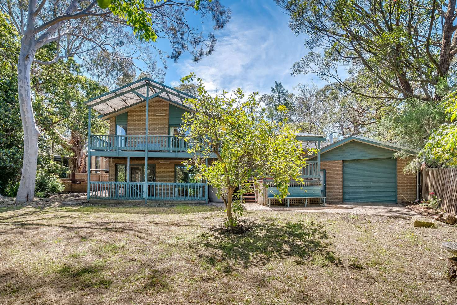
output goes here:
[[190, 214], [202, 212], [220, 212], [222, 208], [213, 205], [176, 204], [163, 206], [133, 205], [85, 205], [67, 212], [85, 213], [123, 213], [123, 214]]

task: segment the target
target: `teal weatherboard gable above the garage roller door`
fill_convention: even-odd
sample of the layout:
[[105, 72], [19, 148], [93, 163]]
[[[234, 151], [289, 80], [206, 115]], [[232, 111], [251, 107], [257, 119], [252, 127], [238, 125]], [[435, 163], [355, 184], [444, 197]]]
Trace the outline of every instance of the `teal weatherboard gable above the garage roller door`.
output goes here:
[[350, 141], [321, 153], [320, 161], [393, 158], [395, 152], [359, 141]]

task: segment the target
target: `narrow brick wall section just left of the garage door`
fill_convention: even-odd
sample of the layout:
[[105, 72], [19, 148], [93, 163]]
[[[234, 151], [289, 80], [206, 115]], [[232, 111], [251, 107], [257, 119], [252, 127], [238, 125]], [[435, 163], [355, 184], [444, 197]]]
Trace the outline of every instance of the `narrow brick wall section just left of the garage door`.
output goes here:
[[343, 161], [321, 161], [320, 169], [325, 170], [327, 203], [343, 202]]

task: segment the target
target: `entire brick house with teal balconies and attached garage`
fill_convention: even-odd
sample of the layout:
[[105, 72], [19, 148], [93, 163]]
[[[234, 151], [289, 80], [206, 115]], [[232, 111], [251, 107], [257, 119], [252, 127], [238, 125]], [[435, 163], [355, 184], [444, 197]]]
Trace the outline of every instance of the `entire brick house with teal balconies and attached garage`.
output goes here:
[[[143, 78], [87, 101], [110, 124], [107, 135], [89, 132], [88, 160], [101, 156], [110, 162], [109, 181], [90, 181], [88, 199], [218, 200], [207, 183], [196, 181], [192, 170], [182, 164], [191, 157], [181, 128], [182, 115], [193, 111], [189, 98], [194, 97]], [[325, 140], [316, 134], [297, 134], [297, 139], [304, 151], [320, 149]], [[286, 202], [302, 204], [309, 198], [324, 199], [323, 203], [325, 198], [331, 203], [412, 201], [417, 198], [417, 175], [403, 172], [406, 161], [395, 155], [400, 150], [408, 148], [359, 136], [331, 143], [308, 156], [304, 181], [291, 181]], [[276, 185], [265, 178], [261, 189], [246, 197], [260, 204], [278, 204], [275, 193]]]

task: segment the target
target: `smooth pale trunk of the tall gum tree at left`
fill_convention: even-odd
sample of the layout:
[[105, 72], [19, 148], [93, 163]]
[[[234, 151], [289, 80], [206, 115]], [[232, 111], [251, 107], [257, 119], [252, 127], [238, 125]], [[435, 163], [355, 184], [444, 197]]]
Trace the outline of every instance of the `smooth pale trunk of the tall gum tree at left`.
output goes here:
[[[33, 27], [32, 27], [33, 28]], [[30, 91], [30, 69], [36, 53], [35, 37], [26, 31], [21, 39], [21, 52], [17, 63], [17, 86], [22, 128], [24, 129], [24, 156], [21, 183], [16, 201], [32, 201], [35, 197], [35, 176], [37, 174], [38, 138], [40, 131], [35, 123]]]

